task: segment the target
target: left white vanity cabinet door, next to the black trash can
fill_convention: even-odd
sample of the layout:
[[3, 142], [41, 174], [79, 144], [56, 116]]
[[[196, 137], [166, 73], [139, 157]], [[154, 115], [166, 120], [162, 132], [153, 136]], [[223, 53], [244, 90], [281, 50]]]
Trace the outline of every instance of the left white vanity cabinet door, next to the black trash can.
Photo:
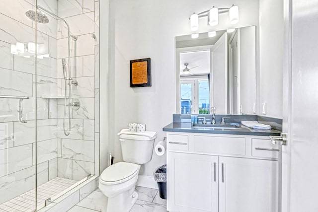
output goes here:
[[218, 212], [218, 157], [168, 153], [168, 210]]

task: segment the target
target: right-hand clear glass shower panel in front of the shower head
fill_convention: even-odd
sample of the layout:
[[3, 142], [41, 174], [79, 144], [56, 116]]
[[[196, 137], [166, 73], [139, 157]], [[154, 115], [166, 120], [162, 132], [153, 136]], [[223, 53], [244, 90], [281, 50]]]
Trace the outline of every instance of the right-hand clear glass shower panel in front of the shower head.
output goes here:
[[99, 172], [95, 125], [99, 1], [83, 2], [37, 1], [38, 210], [49, 198], [54, 203]]

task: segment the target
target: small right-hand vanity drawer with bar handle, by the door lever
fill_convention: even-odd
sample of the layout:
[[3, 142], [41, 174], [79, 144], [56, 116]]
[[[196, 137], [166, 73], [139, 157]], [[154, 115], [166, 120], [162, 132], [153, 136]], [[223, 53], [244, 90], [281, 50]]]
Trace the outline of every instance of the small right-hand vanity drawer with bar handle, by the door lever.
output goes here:
[[278, 143], [273, 144], [267, 139], [252, 139], [252, 156], [278, 158]]

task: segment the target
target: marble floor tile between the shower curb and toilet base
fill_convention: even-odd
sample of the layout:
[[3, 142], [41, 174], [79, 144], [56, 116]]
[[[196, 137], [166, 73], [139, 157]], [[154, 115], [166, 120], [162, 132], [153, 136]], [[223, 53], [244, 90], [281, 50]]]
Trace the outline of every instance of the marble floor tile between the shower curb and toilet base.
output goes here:
[[93, 191], [90, 195], [80, 201], [77, 206], [99, 212], [106, 212], [107, 197], [101, 192]]

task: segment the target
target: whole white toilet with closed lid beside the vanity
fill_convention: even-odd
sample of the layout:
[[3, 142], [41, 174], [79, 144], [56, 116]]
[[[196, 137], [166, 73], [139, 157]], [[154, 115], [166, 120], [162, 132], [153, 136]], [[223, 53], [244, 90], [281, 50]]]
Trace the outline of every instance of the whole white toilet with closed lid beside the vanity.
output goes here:
[[140, 164], [151, 160], [156, 132], [131, 133], [122, 130], [119, 135], [123, 160], [107, 167], [99, 177], [99, 189], [108, 197], [106, 212], [129, 212], [137, 201], [135, 185]]

